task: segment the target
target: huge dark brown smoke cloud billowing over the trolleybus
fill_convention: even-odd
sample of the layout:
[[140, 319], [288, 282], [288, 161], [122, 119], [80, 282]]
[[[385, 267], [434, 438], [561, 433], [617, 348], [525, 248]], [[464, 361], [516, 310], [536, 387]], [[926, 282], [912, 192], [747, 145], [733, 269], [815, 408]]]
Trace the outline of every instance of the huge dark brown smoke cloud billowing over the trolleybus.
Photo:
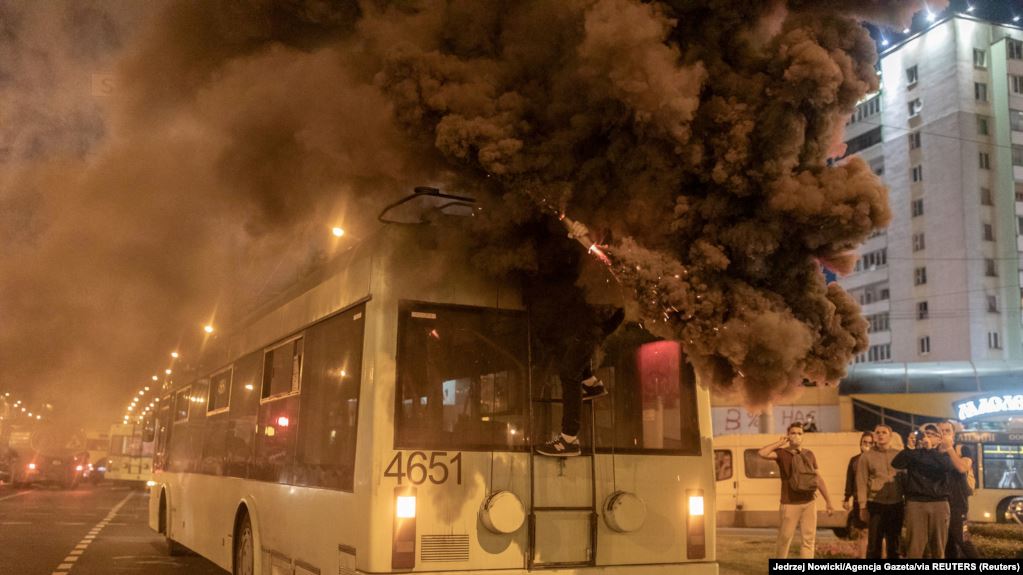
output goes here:
[[[56, 37], [92, 52], [51, 58], [109, 65], [115, 92], [32, 146], [4, 127], [3, 385], [130, 390], [214, 308], [236, 316], [327, 257], [332, 222], [357, 237], [425, 182], [480, 200], [477, 265], [571, 302], [552, 345], [592, 323], [604, 282], [564, 215], [607, 244], [632, 319], [752, 406], [865, 346], [818, 262], [886, 225], [886, 192], [826, 159], [877, 87], [857, 19], [919, 3], [90, 6], [101, 26]], [[8, 24], [12, 51], [45, 32], [30, 20]], [[88, 101], [57, 85], [62, 109]]]

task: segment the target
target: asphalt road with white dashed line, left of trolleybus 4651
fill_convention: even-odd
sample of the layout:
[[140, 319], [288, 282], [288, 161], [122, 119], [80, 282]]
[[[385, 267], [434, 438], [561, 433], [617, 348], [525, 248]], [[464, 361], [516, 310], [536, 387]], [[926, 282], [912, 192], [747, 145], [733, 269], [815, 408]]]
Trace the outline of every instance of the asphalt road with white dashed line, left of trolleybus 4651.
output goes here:
[[197, 556], [169, 557], [147, 525], [148, 495], [113, 485], [0, 487], [0, 575], [224, 575]]

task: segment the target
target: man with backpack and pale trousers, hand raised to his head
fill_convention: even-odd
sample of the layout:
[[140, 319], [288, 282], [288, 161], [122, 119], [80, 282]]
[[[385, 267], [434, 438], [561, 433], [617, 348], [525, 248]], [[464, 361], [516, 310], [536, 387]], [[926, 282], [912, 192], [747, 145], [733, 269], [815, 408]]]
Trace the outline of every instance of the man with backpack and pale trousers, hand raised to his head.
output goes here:
[[795, 423], [789, 426], [782, 439], [765, 445], [757, 452], [765, 459], [777, 461], [782, 477], [782, 507], [781, 521], [777, 528], [777, 547], [774, 557], [789, 557], [789, 545], [799, 527], [802, 544], [799, 547], [801, 559], [813, 559], [813, 545], [817, 533], [817, 505], [814, 500], [819, 490], [827, 503], [828, 515], [835, 511], [828, 486], [817, 473], [817, 459], [809, 449], [801, 449], [803, 443], [803, 425]]

